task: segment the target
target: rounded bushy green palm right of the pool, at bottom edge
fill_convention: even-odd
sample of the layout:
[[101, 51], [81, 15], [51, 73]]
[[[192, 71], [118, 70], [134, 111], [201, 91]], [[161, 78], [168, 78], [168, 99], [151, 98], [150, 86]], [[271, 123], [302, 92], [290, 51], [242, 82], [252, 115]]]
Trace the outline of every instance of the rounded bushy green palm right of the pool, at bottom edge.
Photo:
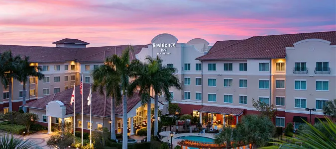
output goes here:
[[274, 131], [275, 126], [268, 117], [245, 115], [236, 126], [233, 138], [235, 142], [245, 145], [251, 144], [254, 149], [265, 146], [269, 138], [273, 137]]

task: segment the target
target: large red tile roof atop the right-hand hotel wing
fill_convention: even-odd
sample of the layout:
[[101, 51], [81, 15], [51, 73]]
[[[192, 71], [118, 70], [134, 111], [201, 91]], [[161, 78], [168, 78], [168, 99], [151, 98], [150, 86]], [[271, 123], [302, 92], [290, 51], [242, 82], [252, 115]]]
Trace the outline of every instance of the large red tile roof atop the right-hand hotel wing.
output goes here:
[[336, 31], [254, 36], [196, 58], [196, 60], [276, 59], [286, 57], [286, 47], [305, 39], [324, 39], [336, 45]]

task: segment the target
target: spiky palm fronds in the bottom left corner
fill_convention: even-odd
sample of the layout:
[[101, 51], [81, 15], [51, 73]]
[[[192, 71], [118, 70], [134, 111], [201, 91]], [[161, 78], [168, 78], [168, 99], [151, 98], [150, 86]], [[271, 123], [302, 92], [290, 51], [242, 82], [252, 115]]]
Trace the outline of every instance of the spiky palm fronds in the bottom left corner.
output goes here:
[[33, 140], [24, 140], [24, 138], [15, 138], [14, 135], [0, 134], [0, 149], [36, 149]]

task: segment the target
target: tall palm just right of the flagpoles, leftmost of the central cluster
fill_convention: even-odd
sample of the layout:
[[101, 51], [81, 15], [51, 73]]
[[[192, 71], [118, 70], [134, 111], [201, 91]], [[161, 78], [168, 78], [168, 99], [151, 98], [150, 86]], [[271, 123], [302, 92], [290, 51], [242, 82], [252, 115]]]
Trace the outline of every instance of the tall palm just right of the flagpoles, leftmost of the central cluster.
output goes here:
[[115, 101], [119, 103], [122, 100], [119, 85], [120, 75], [117, 74], [112, 63], [105, 63], [105, 65], [100, 66], [98, 69], [94, 69], [91, 72], [91, 76], [94, 80], [93, 90], [99, 90], [103, 95], [105, 90], [106, 96], [111, 97], [112, 125], [110, 129], [111, 139], [115, 140]]

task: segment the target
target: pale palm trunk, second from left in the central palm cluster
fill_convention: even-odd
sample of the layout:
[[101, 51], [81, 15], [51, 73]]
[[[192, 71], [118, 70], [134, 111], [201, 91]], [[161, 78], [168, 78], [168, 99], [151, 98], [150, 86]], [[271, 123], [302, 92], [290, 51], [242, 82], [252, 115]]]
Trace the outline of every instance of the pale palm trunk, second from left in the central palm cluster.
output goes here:
[[127, 98], [123, 90], [122, 98], [122, 149], [127, 149]]

